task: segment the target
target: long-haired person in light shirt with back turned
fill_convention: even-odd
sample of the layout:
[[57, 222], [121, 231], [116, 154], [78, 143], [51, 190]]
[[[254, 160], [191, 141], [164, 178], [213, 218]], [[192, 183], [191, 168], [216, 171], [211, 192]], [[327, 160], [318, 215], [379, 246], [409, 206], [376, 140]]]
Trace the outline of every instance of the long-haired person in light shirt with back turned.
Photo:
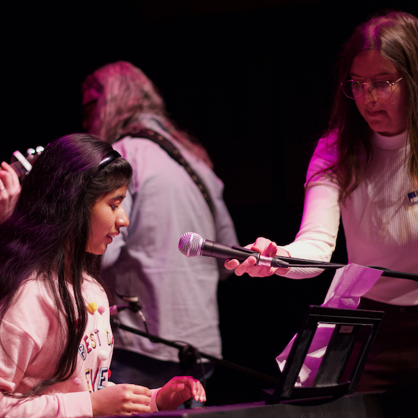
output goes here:
[[[176, 127], [150, 79], [125, 61], [104, 65], [86, 77], [83, 110], [84, 128], [113, 144], [134, 169], [124, 203], [130, 226], [107, 249], [104, 279], [116, 293], [139, 297], [151, 334], [221, 357], [217, 283], [220, 274], [229, 272], [215, 258], [186, 258], [178, 251], [178, 241], [188, 231], [238, 243], [222, 181], [212, 171], [206, 150]], [[141, 137], [144, 130], [167, 139], [194, 173], [166, 148]], [[122, 323], [144, 330], [139, 316], [127, 311], [119, 316]], [[159, 386], [181, 370], [175, 348], [121, 330], [115, 334], [116, 381]], [[212, 366], [203, 359], [191, 373], [208, 377]]]

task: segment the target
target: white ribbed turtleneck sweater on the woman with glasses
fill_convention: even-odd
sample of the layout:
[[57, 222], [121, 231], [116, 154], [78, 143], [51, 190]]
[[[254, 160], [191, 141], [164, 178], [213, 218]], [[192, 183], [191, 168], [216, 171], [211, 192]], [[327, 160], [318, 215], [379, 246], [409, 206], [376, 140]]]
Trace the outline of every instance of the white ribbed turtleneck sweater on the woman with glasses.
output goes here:
[[[418, 204], [408, 199], [414, 189], [406, 133], [373, 134], [373, 160], [345, 205], [338, 201], [335, 178], [316, 175], [335, 160], [335, 140], [336, 134], [331, 134], [318, 142], [307, 171], [307, 180], [313, 180], [305, 185], [300, 231], [282, 248], [295, 258], [330, 261], [341, 217], [350, 263], [418, 274]], [[303, 279], [320, 271], [293, 268], [285, 276]], [[418, 281], [380, 277], [365, 296], [388, 304], [417, 305]]]

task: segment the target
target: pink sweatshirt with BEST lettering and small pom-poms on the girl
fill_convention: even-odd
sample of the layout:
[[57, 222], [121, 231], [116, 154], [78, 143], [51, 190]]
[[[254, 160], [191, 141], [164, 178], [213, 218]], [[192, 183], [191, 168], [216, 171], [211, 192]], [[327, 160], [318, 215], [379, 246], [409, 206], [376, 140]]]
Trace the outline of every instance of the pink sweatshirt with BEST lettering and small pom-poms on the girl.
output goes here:
[[[88, 311], [75, 372], [35, 398], [0, 393], [0, 417], [92, 417], [89, 393], [109, 384], [114, 341], [102, 286], [85, 274], [82, 292], [86, 306], [91, 304], [93, 309]], [[65, 330], [59, 327], [52, 293], [40, 277], [31, 277], [16, 295], [1, 322], [0, 341], [1, 391], [22, 394], [54, 372]], [[157, 410], [156, 393], [153, 391], [152, 410]]]

